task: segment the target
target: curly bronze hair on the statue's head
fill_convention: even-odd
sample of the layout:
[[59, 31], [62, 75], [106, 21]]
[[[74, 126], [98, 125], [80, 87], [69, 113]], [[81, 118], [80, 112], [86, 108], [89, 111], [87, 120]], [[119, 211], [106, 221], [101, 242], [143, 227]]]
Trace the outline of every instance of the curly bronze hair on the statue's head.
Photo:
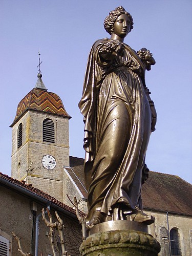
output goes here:
[[132, 15], [129, 12], [126, 12], [125, 9], [120, 6], [115, 8], [114, 11], [111, 11], [109, 15], [104, 19], [104, 29], [106, 32], [108, 32], [110, 35], [112, 34], [114, 30], [114, 24], [116, 19], [121, 15], [121, 14], [126, 14], [130, 18], [131, 22], [131, 27], [130, 27], [130, 32], [133, 29], [133, 18]]

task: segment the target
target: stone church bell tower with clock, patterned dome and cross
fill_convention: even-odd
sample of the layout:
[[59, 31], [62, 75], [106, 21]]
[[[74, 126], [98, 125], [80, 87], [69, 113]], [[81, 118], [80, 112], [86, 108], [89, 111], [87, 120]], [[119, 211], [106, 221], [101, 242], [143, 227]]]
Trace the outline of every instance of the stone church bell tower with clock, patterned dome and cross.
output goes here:
[[[39, 53], [40, 55], [40, 53]], [[39, 72], [18, 104], [12, 127], [11, 175], [63, 201], [63, 166], [69, 166], [69, 119], [60, 97], [48, 92]]]

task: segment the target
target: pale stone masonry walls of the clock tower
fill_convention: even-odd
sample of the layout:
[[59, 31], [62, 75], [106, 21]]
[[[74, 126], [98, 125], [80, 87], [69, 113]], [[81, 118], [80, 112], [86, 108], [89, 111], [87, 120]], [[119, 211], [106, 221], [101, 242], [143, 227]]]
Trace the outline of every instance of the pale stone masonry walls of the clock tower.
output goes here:
[[[55, 143], [42, 141], [42, 122], [50, 118], [55, 125]], [[17, 149], [18, 125], [23, 123], [23, 144]], [[28, 111], [14, 124], [12, 132], [12, 177], [25, 180], [63, 201], [63, 166], [69, 166], [69, 119]], [[52, 155], [56, 167], [42, 168], [42, 157]], [[29, 170], [27, 173], [26, 171]], [[27, 175], [28, 174], [28, 175]]]

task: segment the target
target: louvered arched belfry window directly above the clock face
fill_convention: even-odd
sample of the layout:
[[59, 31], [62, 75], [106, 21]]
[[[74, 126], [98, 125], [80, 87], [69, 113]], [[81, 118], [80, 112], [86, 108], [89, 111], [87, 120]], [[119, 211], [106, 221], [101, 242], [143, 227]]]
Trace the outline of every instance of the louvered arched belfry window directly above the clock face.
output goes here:
[[55, 142], [55, 125], [54, 122], [47, 118], [42, 123], [42, 140], [47, 142]]

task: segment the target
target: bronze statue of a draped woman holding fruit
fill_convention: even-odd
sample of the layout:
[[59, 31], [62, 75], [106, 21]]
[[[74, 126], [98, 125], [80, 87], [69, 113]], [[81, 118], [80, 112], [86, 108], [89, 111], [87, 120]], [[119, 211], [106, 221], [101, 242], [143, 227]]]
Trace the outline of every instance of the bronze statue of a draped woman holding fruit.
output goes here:
[[136, 53], [123, 43], [133, 18], [122, 6], [109, 13], [104, 28], [111, 38], [94, 43], [79, 102], [85, 124], [87, 225], [109, 220], [148, 225], [154, 217], [142, 211], [141, 185], [156, 111], [144, 74], [155, 60], [145, 48]]

